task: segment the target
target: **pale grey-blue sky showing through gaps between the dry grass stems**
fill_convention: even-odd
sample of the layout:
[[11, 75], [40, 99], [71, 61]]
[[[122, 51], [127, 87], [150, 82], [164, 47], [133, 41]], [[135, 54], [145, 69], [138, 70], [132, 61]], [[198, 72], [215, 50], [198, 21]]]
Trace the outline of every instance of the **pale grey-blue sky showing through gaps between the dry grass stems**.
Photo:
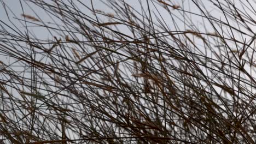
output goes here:
[[[40, 9], [38, 6], [32, 4], [32, 3], [27, 3], [27, 1], [18, 1], [18, 0], [0, 0], [0, 31], [2, 33], [4, 33], [4, 31], [8, 31], [11, 33], [14, 33], [16, 35], [19, 35], [19, 33], [27, 33], [27, 29], [28, 28], [29, 35], [31, 37], [36, 36], [38, 39], [40, 39], [40, 42], [42, 43], [47, 43], [50, 40], [54, 40], [54, 36], [57, 37], [57, 39], [61, 38], [61, 39], [65, 39], [65, 34], [63, 35], [58, 35], [57, 33], [53, 32], [53, 31], [48, 31], [45, 27], [38, 27], [35, 26], [33, 23], [26, 23], [24, 22], [24, 17], [22, 16], [22, 14], [25, 15], [30, 15], [33, 17], [36, 17], [36, 19], [39, 19], [40, 21], [43, 21], [45, 23], [48, 23], [49, 25], [51, 25], [51, 23], [55, 23], [57, 25], [62, 25], [63, 23], [55, 18], [51, 18], [47, 13], [45, 13], [45, 11], [43, 9]], [[53, 2], [53, 1], [45, 1], [45, 2]], [[66, 1], [71, 2], [71, 1]], [[89, 15], [90, 17], [92, 17], [93, 21], [96, 21], [96, 17], [94, 15], [94, 13], [92, 13], [92, 11], [90, 11], [89, 9], [86, 9], [86, 7], [92, 8], [92, 5], [94, 6], [94, 9], [96, 10], [101, 10], [104, 13], [114, 13], [113, 9], [110, 9], [108, 7], [106, 7], [106, 5], [104, 5], [101, 1], [99, 0], [93, 0], [91, 3], [91, 1], [83, 1], [84, 5], [79, 4], [78, 1], [72, 1], [74, 3], [77, 3], [77, 7], [79, 10], [82, 11], [82, 13]], [[105, 1], [107, 2], [107, 1]], [[126, 1], [129, 2], [130, 5], [132, 5], [132, 8], [134, 8], [134, 11], [139, 11], [139, 13], [142, 13], [141, 11], [141, 6], [138, 4], [139, 1]], [[151, 2], [151, 1], [150, 1]], [[159, 1], [154, 1], [154, 2], [159, 2]], [[192, 1], [190, 0], [183, 0], [183, 1], [169, 1], [170, 3], [172, 3], [173, 5], [179, 5], [179, 7], [193, 12], [195, 14], [201, 14], [199, 8], [196, 7], [195, 4], [193, 4]], [[214, 5], [210, 4], [210, 2], [208, 1], [196, 1], [199, 4], [204, 4], [206, 10], [208, 10], [208, 12], [214, 16], [216, 19], [218, 20], [222, 20], [225, 21], [225, 16], [223, 16], [221, 13], [222, 11], [220, 10], [216, 10], [214, 9]], [[238, 1], [237, 1], [238, 3]], [[161, 3], [158, 3], [161, 4]], [[150, 3], [150, 9], [152, 10], [152, 14], [154, 13], [155, 15], [153, 15], [153, 20], [160, 20], [160, 21], [164, 21], [166, 23], [166, 25], [168, 26], [168, 28], [170, 28], [170, 31], [176, 31], [178, 28], [181, 28], [181, 30], [183, 31], [188, 31], [189, 29], [192, 28], [199, 28], [200, 31], [202, 32], [214, 32], [213, 28], [211, 26], [211, 24], [208, 21], [203, 21], [201, 16], [198, 15], [194, 15], [194, 14], [189, 14], [187, 13], [187, 16], [183, 17], [183, 15], [185, 15], [184, 13], [182, 13], [181, 11], [178, 11], [177, 9], [171, 9], [171, 14], [167, 13], [166, 10], [164, 10], [163, 8], [160, 8], [158, 4], [153, 4]], [[70, 4], [69, 4], [70, 5]], [[147, 1], [146, 0], [142, 0], [142, 5], [143, 7], [147, 7]], [[242, 7], [241, 5], [239, 5], [239, 3], [237, 4], [237, 7]], [[246, 10], [245, 10], [246, 11]], [[181, 13], [179, 13], [181, 12]], [[255, 14], [253, 14], [253, 12], [247, 11], [248, 13], [252, 13], [252, 16], [254, 16]], [[146, 10], [145, 12], [143, 12], [143, 14], [148, 15], [149, 14], [149, 10]], [[102, 18], [101, 15], [97, 15], [99, 18]], [[172, 17], [173, 16], [173, 17]], [[177, 23], [174, 24], [174, 21], [176, 21]], [[193, 23], [195, 23], [195, 26], [190, 26], [190, 25], [186, 25], [187, 23], [189, 23], [190, 21], [193, 21]], [[109, 19], [107, 18], [103, 18], [102, 21], [103, 22], [109, 22]], [[203, 23], [205, 22], [205, 23]], [[40, 23], [40, 22], [37, 22]], [[75, 25], [75, 24], [74, 24]], [[203, 25], [205, 25], [206, 27], [203, 27]], [[234, 27], [236, 26], [236, 23], [232, 23], [232, 25]], [[65, 26], [63, 26], [65, 28]], [[177, 28], [178, 27], [178, 28]], [[123, 32], [124, 34], [128, 34], [128, 35], [132, 35], [130, 31], [128, 31], [127, 27], [125, 26], [119, 26], [118, 28], [120, 28], [120, 31]], [[149, 29], [150, 30], [150, 29]], [[16, 33], [15, 31], [19, 31], [18, 33]], [[225, 27], [224, 31], [229, 32], [229, 27]], [[83, 39], [82, 36], [79, 36], [79, 34], [77, 35], [78, 39]], [[191, 36], [191, 35], [190, 35]], [[198, 35], [197, 35], [198, 37]], [[244, 39], [245, 37], [242, 37], [239, 34], [235, 34], [235, 37]], [[194, 38], [194, 37], [193, 37]], [[4, 35], [0, 34], [0, 44], [4, 41]], [[247, 43], [248, 43], [248, 39], [247, 39]], [[171, 42], [170, 42], [171, 43]], [[26, 47], [26, 43], [19, 43], [21, 46]], [[198, 45], [203, 45], [202, 41], [198, 43]], [[230, 44], [231, 45], [231, 44]], [[18, 46], [18, 45], [17, 45]], [[49, 44], [45, 44], [45, 47], [48, 47], [48, 49], [51, 47], [52, 45]], [[218, 45], [217, 45], [218, 46]], [[234, 45], [231, 45], [234, 46]], [[239, 49], [242, 49], [243, 47], [239, 47], [240, 45], [238, 45]], [[19, 47], [19, 46], [18, 46]], [[192, 47], [192, 46], [191, 46]], [[202, 46], [204, 47], [204, 46]], [[193, 48], [193, 47], [192, 47]], [[232, 47], [233, 50], [235, 50], [235, 46]], [[29, 51], [28, 49], [23, 50], [21, 47], [19, 47], [19, 49], [22, 52], [24, 52], [24, 56], [29, 56], [28, 54], [31, 54], [32, 51]], [[202, 52], [206, 52], [206, 49], [202, 49]], [[15, 51], [14, 51], [15, 52]], [[90, 52], [90, 50], [89, 50]], [[25, 55], [27, 54], [27, 55]], [[32, 53], [33, 56], [37, 56], [35, 59], [37, 59], [38, 61], [43, 61], [45, 57], [42, 57], [41, 55], [36, 55], [34, 53]], [[32, 55], [31, 54], [31, 55]], [[222, 53], [220, 52], [219, 55], [221, 55]], [[211, 56], [212, 53], [211, 51], [208, 52], [208, 55]], [[13, 55], [12, 55], [13, 56]], [[47, 57], [46, 57], [47, 58]], [[11, 64], [11, 63], [15, 63], [16, 59], [12, 58], [10, 56], [6, 55], [6, 52], [3, 51], [3, 49], [1, 49], [0, 47], [0, 61], [6, 63], [6, 64]], [[47, 61], [47, 59], [45, 59], [45, 61]], [[24, 67], [24, 65], [22, 65], [22, 63], [16, 63], [16, 64], [11, 64], [13, 69], [16, 70], [16, 72], [19, 71], [23, 71], [26, 67]], [[20, 67], [21, 66], [21, 67]], [[249, 67], [247, 67], [248, 70]], [[25, 77], [29, 77], [30, 76], [30, 71], [28, 71], [28, 73], [24, 74], [23, 76]], [[0, 80], [3, 78], [0, 78]], [[221, 90], [221, 89], [220, 89]]]

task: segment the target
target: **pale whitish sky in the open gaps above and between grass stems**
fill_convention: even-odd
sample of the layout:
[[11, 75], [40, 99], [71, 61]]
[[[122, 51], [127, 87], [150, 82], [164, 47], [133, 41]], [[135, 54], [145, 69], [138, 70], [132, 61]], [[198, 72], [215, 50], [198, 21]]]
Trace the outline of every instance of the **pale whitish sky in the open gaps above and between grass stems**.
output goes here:
[[[27, 31], [26, 27], [25, 27], [25, 24], [26, 24], [27, 27], [29, 28], [29, 31], [32, 32], [31, 35], [33, 35], [33, 34], [36, 35], [36, 37], [41, 39], [42, 41], [48, 40], [48, 39], [53, 39], [53, 36], [56, 36], [58, 38], [62, 37], [62, 39], [65, 39], [64, 35], [60, 36], [60, 35], [57, 35], [54, 32], [53, 32], [53, 35], [51, 35], [51, 31], [50, 32], [47, 31], [46, 28], [35, 27], [34, 24], [25, 23], [25, 22], [21, 22], [21, 21], [17, 20], [17, 19], [23, 20], [24, 18], [21, 16], [21, 14], [24, 13], [24, 14], [27, 14], [27, 15], [34, 16], [37, 19], [41, 19], [44, 22], [53, 23], [53, 21], [55, 21], [59, 25], [62, 24], [61, 21], [57, 20], [56, 18], [51, 19], [45, 13], [45, 11], [43, 9], [38, 8], [38, 6], [33, 5], [32, 3], [29, 3], [29, 2], [28, 2], [29, 4], [27, 5], [26, 1], [19, 1], [19, 0], [2, 0], [2, 1], [0, 0], [0, 2], [1, 2], [0, 3], [0, 20], [2, 21], [2, 22], [0, 22], [0, 26], [2, 26], [2, 27], [0, 27], [0, 31], [3, 32], [4, 29], [6, 29], [8, 32], [12, 32], [15, 35], [18, 35], [18, 33], [16, 33], [15, 31], [20, 31], [22, 33], [26, 33], [26, 31]], [[52, 2], [52, 1], [45, 1], [45, 2]], [[68, 3], [68, 2], [71, 2], [71, 1], [66, 1], [66, 2]], [[77, 1], [72, 1], [72, 2], [77, 3]], [[87, 5], [88, 7], [91, 8], [90, 1], [83, 1], [83, 2], [85, 2], [85, 5]], [[92, 2], [93, 2], [93, 5], [94, 5], [95, 9], [102, 10], [102, 11], [104, 11], [104, 13], [113, 13], [112, 9], [107, 8], [106, 5], [104, 5], [99, 0], [94, 0]], [[107, 2], [107, 0], [104, 1], [104, 2]], [[135, 10], [138, 10], [141, 13], [141, 7], [138, 4], [139, 1], [136, 1], [136, 0], [128, 1], [128, 0], [126, 0], [126, 2], [129, 2], [129, 4], [132, 5], [132, 8], [134, 8]], [[157, 2], [157, 1], [154, 1], [154, 2]], [[214, 9], [214, 5], [211, 4], [209, 1], [202, 0], [202, 1], [197, 1], [197, 2], [199, 2], [199, 3], [203, 2], [203, 4], [206, 7], [205, 9], [207, 9], [208, 12], [213, 17], [216, 17], [218, 20], [225, 21], [225, 17], [221, 14], [222, 12], [219, 11], [219, 10]], [[142, 0], [142, 3], [143, 3], [143, 7], [146, 8], [147, 7], [147, 1]], [[170, 1], [170, 3], [177, 4], [177, 5], [179, 5], [180, 7], [182, 7], [183, 9], [185, 9], [187, 11], [191, 11], [191, 12], [196, 13], [196, 14], [201, 14], [200, 10], [190, 0], [183, 0], [183, 1], [182, 0], [175, 0], [175, 1]], [[4, 7], [4, 5], [5, 5], [5, 7]], [[24, 8], [24, 11], [22, 11], [21, 5]], [[253, 4], [253, 5], [255, 5], [255, 4]], [[84, 14], [90, 15], [91, 17], [93, 17], [94, 20], [96, 19], [95, 16], [92, 14], [92, 12], [89, 9], [86, 9], [81, 4], [78, 4], [77, 6], [78, 6], [78, 9], [81, 10]], [[210, 25], [210, 23], [207, 20], [205, 20], [204, 21], [205, 23], [203, 23], [202, 17], [200, 17], [200, 16], [196, 16], [196, 15], [193, 15], [193, 14], [186, 13], [187, 16], [183, 17], [184, 13], [181, 12], [181, 11], [178, 11], [178, 10], [172, 10], [171, 13], [173, 15], [170, 15], [170, 14], [167, 13], [166, 10], [164, 10], [163, 8], [160, 8], [158, 6], [158, 4], [155, 4], [155, 6], [156, 6], [157, 9], [154, 7], [154, 5], [152, 3], [150, 3], [150, 8], [152, 9], [152, 14], [154, 13], [156, 15], [156, 16], [153, 16], [153, 20], [156, 21], [156, 19], [160, 19], [162, 21], [162, 19], [164, 19], [163, 21], [166, 22], [166, 25], [170, 28], [170, 31], [176, 31], [177, 27], [179, 27], [182, 31], [185, 31], [185, 30], [188, 30], [188, 29], [194, 29], [195, 27], [197, 27], [202, 32], [213, 32], [213, 28]], [[242, 8], [239, 1], [237, 1], [237, 7]], [[203, 10], [205, 10], [205, 9], [203, 9]], [[7, 13], [5, 13], [6, 12], [5, 10], [7, 10]], [[245, 9], [245, 11], [247, 11], [247, 10]], [[12, 12], [13, 12], [13, 14], [12, 14]], [[252, 11], [247, 11], [247, 12], [250, 13], [252, 15], [252, 17], [255, 17], [255, 14]], [[148, 11], [146, 11], [146, 13], [148, 14]], [[9, 19], [7, 17], [7, 14], [9, 16]], [[101, 17], [100, 15], [98, 15], [98, 16]], [[171, 16], [173, 16], [174, 18], [172, 19]], [[188, 23], [190, 23], [190, 22], [188, 22], [188, 21], [190, 21], [189, 19], [191, 19], [191, 21], [193, 21], [195, 26], [187, 25]], [[108, 19], [103, 19], [102, 21], [108, 22]], [[177, 26], [174, 25], [173, 21], [177, 22]], [[4, 25], [4, 23], [6, 25]], [[37, 23], [40, 23], [40, 22], [37, 22]], [[206, 27], [203, 27], [203, 25], [206, 25]], [[237, 27], [236, 23], [231, 23], [231, 25], [234, 26], [234, 27]], [[251, 26], [251, 27], [255, 28], [253, 26]], [[11, 30], [11, 28], [14, 28], [15, 31]], [[123, 32], [123, 33], [131, 34], [129, 31], [127, 31], [127, 29], [125, 27], [120, 26], [120, 29], [121, 29], [121, 32]], [[223, 29], [223, 31], [228, 32], [229, 31], [228, 27], [225, 27], [225, 29]], [[245, 32], [247, 32], [246, 29], [245, 29]], [[235, 35], [235, 37], [237, 37], [238, 39], [239, 38], [243, 39], [246, 36], [243, 35], [243, 38], [242, 38], [241, 35], [237, 34], [237, 35]], [[4, 38], [4, 35], [0, 34], [0, 43], [2, 43], [1, 40], [4, 40], [3, 38]], [[81, 38], [81, 37], [78, 37], [78, 38]], [[247, 42], [248, 41], [249, 41], [249, 39], [247, 39]], [[202, 41], [199, 42], [198, 44], [202, 45]], [[26, 44], [21, 44], [21, 45], [26, 46]], [[232, 46], [232, 44], [230, 44], [230, 45]], [[49, 47], [50, 47], [50, 45], [49, 45]], [[193, 47], [193, 46], [191, 46], [191, 47]], [[232, 47], [232, 49], [233, 48], [235, 49], [235, 46]], [[241, 49], [242, 47], [238, 46], [238, 48]], [[18, 49], [20, 49], [20, 48], [18, 48]], [[13, 58], [11, 58], [9, 56], [4, 56], [4, 54], [3, 54], [4, 52], [1, 51], [1, 50], [3, 50], [3, 49], [0, 47], [0, 61], [3, 61], [4, 63], [11, 63], [11, 62], [15, 61]], [[202, 49], [202, 51], [206, 51], [206, 50]], [[211, 55], [212, 54], [211, 52], [212, 51], [209, 51], [208, 55]], [[37, 56], [39, 56], [38, 57], [39, 59], [41, 58], [40, 55], [37, 55]], [[249, 67], [247, 67], [247, 68], [248, 68], [248, 71], [249, 71], [250, 68]], [[23, 70], [20, 67], [14, 67], [13, 69], [17, 70], [17, 71], [22, 71]], [[29, 76], [29, 75], [30, 74], [27, 74], [25, 76]], [[2, 78], [0, 77], [0, 80], [1, 79]]]

